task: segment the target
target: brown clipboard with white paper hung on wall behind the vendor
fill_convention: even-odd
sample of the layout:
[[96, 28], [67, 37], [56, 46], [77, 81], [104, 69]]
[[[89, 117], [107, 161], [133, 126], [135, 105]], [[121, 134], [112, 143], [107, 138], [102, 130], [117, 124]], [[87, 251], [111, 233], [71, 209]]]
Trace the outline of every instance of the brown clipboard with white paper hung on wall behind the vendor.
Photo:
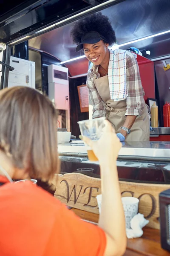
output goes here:
[[86, 84], [77, 86], [81, 112], [88, 112], [88, 87]]

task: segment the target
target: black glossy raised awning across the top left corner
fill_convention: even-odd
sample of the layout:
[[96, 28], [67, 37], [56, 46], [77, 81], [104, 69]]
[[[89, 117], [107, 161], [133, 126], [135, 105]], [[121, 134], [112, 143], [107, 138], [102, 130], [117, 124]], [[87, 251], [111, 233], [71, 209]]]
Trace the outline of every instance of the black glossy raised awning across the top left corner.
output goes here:
[[[0, 6], [0, 40], [6, 44], [41, 29], [74, 17], [85, 10], [122, 0], [15, 0]], [[108, 3], [108, 4], [107, 4]], [[101, 8], [102, 9], [102, 6]], [[78, 17], [77, 17], [78, 18]], [[75, 20], [77, 19], [75, 17]], [[69, 23], [69, 21], [68, 21]], [[31, 37], [30, 37], [31, 38]]]

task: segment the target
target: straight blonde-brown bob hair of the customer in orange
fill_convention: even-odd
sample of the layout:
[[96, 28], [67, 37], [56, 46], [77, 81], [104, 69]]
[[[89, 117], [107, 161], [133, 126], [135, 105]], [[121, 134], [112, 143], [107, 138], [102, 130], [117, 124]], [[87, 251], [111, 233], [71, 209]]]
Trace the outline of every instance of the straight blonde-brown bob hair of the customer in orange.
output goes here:
[[29, 87], [0, 91], [0, 149], [32, 178], [57, 172], [57, 112], [48, 97]]

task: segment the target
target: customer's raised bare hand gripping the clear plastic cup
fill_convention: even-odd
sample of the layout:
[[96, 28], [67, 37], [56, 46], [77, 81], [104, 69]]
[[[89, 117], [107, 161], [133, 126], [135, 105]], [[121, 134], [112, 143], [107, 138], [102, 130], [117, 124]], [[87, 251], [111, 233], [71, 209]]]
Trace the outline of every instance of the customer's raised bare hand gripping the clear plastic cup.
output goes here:
[[116, 136], [115, 130], [108, 120], [105, 120], [105, 128], [102, 137], [99, 140], [90, 140], [88, 137], [81, 137], [94, 151], [99, 162], [107, 162], [111, 159], [117, 159], [122, 143]]

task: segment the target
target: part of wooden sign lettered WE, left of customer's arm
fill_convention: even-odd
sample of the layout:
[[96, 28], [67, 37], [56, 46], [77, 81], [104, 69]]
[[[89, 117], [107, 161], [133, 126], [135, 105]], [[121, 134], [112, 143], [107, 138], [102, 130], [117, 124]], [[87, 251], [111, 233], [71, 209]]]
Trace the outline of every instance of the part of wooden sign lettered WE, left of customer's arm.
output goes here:
[[62, 203], [69, 207], [85, 210], [88, 212], [99, 212], [96, 196], [101, 194], [100, 179], [89, 177], [79, 173], [68, 173], [57, 175], [54, 194]]

